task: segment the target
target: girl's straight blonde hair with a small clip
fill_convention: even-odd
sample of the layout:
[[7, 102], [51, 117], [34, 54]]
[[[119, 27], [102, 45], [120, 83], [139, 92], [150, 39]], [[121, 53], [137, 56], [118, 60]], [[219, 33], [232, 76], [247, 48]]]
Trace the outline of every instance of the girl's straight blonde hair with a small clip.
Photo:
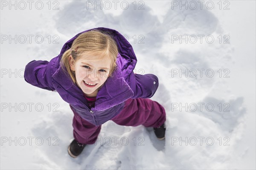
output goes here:
[[61, 68], [70, 75], [73, 83], [76, 83], [75, 71], [71, 70], [69, 63], [69, 56], [72, 55], [75, 62], [81, 58], [82, 55], [87, 54], [89, 56], [98, 55], [99, 59], [91, 58], [90, 61], [96, 61], [103, 59], [104, 57], [109, 57], [111, 59], [111, 67], [109, 76], [112, 75], [113, 71], [116, 69], [116, 57], [118, 54], [118, 48], [116, 41], [105, 32], [103, 34], [99, 30], [87, 31], [80, 34], [73, 42], [71, 48], [64, 52], [61, 57]]

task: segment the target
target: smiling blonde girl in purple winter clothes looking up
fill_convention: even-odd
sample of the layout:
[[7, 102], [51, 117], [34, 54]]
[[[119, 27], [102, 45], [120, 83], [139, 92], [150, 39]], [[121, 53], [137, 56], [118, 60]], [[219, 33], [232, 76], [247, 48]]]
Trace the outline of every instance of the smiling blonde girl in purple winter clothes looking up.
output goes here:
[[134, 74], [136, 62], [125, 37], [101, 27], [77, 34], [49, 62], [33, 60], [26, 65], [26, 82], [57, 91], [70, 104], [74, 113], [70, 156], [76, 158], [86, 144], [95, 143], [108, 120], [154, 127], [157, 138], [165, 139], [165, 110], [148, 99], [158, 88], [158, 78]]

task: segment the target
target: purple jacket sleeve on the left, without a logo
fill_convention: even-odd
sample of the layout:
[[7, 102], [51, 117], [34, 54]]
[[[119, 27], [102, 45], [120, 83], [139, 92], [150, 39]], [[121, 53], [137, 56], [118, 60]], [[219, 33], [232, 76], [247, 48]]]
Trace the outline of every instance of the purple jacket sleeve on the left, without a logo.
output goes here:
[[52, 67], [52, 62], [33, 60], [25, 67], [24, 79], [29, 84], [38, 88], [54, 91], [55, 88], [52, 85]]

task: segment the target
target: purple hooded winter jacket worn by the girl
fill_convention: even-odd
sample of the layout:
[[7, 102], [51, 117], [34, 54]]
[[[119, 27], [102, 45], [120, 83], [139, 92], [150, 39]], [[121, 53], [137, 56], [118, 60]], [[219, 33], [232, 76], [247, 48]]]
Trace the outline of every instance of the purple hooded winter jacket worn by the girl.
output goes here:
[[[83, 91], [62, 70], [60, 60], [79, 34], [93, 29], [108, 31], [116, 41], [119, 54], [113, 76], [108, 77], [96, 96], [95, 106], [89, 109]], [[127, 99], [151, 98], [157, 91], [158, 78], [154, 74], [134, 74], [137, 58], [131, 44], [122, 34], [110, 28], [93, 29], [76, 34], [64, 44], [61, 53], [49, 62], [42, 60], [29, 62], [25, 68], [24, 79], [38, 88], [56, 90], [83, 119], [99, 126], [120, 113]]]

